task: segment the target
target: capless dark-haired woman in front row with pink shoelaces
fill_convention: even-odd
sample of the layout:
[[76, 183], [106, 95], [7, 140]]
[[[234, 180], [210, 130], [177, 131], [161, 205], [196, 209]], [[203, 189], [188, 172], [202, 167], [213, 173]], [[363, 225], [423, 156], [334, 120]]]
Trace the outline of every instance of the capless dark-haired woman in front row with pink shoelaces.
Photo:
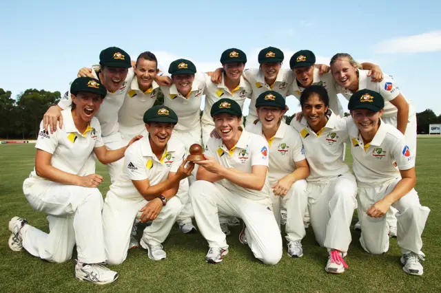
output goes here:
[[[309, 164], [308, 208], [311, 225], [320, 246], [327, 248], [325, 270], [340, 274], [347, 265], [351, 232], [349, 226], [356, 208], [356, 179], [343, 162], [344, 142], [348, 140], [346, 122], [329, 109], [325, 87], [311, 85], [300, 96], [302, 119], [291, 121], [302, 138]], [[298, 235], [305, 228], [297, 227]]]

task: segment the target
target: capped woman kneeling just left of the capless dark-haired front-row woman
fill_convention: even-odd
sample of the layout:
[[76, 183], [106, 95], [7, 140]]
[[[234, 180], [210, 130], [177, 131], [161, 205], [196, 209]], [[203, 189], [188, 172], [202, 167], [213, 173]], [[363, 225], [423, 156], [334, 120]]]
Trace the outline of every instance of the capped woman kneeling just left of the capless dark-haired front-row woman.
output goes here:
[[302, 257], [300, 240], [305, 235], [296, 234], [301, 229], [294, 226], [303, 226], [308, 199], [305, 178], [309, 175], [309, 166], [300, 135], [283, 122], [285, 105], [285, 98], [278, 92], [263, 92], [255, 105], [259, 121], [249, 124], [246, 129], [262, 135], [269, 144], [268, 174], [274, 216], [280, 225], [280, 206], [285, 202], [287, 251], [290, 257]]

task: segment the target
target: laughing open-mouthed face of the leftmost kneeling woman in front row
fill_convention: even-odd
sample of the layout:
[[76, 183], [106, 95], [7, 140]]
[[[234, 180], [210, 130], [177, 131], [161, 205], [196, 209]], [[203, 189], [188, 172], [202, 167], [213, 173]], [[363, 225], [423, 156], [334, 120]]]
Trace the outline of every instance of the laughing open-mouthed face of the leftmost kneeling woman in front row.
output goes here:
[[75, 111], [76, 116], [79, 116], [85, 122], [92, 120], [92, 117], [98, 112], [101, 102], [103, 102], [103, 98], [99, 94], [88, 91], [80, 91], [76, 96], [74, 94], [71, 96], [75, 105], [73, 111]]

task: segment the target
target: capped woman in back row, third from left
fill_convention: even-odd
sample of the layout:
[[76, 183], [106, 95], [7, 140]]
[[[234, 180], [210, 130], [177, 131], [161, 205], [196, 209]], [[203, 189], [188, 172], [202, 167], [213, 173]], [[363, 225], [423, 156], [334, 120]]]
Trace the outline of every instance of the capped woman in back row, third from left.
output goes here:
[[[172, 86], [161, 87], [164, 105], [170, 107], [178, 116], [178, 124], [173, 129], [173, 137], [180, 140], [189, 153], [192, 144], [202, 144], [201, 101], [205, 91], [207, 75], [197, 72], [192, 61], [178, 59], [170, 63], [168, 73], [172, 74]], [[194, 216], [188, 195], [188, 186], [196, 180], [196, 170], [188, 179], [181, 180], [178, 197], [185, 205], [177, 222], [184, 233], [196, 232], [192, 224]]]

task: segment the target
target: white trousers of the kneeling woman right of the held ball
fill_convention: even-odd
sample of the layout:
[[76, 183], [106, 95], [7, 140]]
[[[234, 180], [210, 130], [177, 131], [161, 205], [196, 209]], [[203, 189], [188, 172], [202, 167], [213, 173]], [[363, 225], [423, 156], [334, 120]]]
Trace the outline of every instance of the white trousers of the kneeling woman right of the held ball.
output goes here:
[[231, 193], [217, 183], [198, 180], [190, 186], [194, 216], [201, 234], [210, 248], [225, 248], [227, 241], [220, 230], [218, 213], [240, 217], [247, 226], [248, 246], [254, 257], [267, 265], [282, 258], [282, 237], [269, 206]]

